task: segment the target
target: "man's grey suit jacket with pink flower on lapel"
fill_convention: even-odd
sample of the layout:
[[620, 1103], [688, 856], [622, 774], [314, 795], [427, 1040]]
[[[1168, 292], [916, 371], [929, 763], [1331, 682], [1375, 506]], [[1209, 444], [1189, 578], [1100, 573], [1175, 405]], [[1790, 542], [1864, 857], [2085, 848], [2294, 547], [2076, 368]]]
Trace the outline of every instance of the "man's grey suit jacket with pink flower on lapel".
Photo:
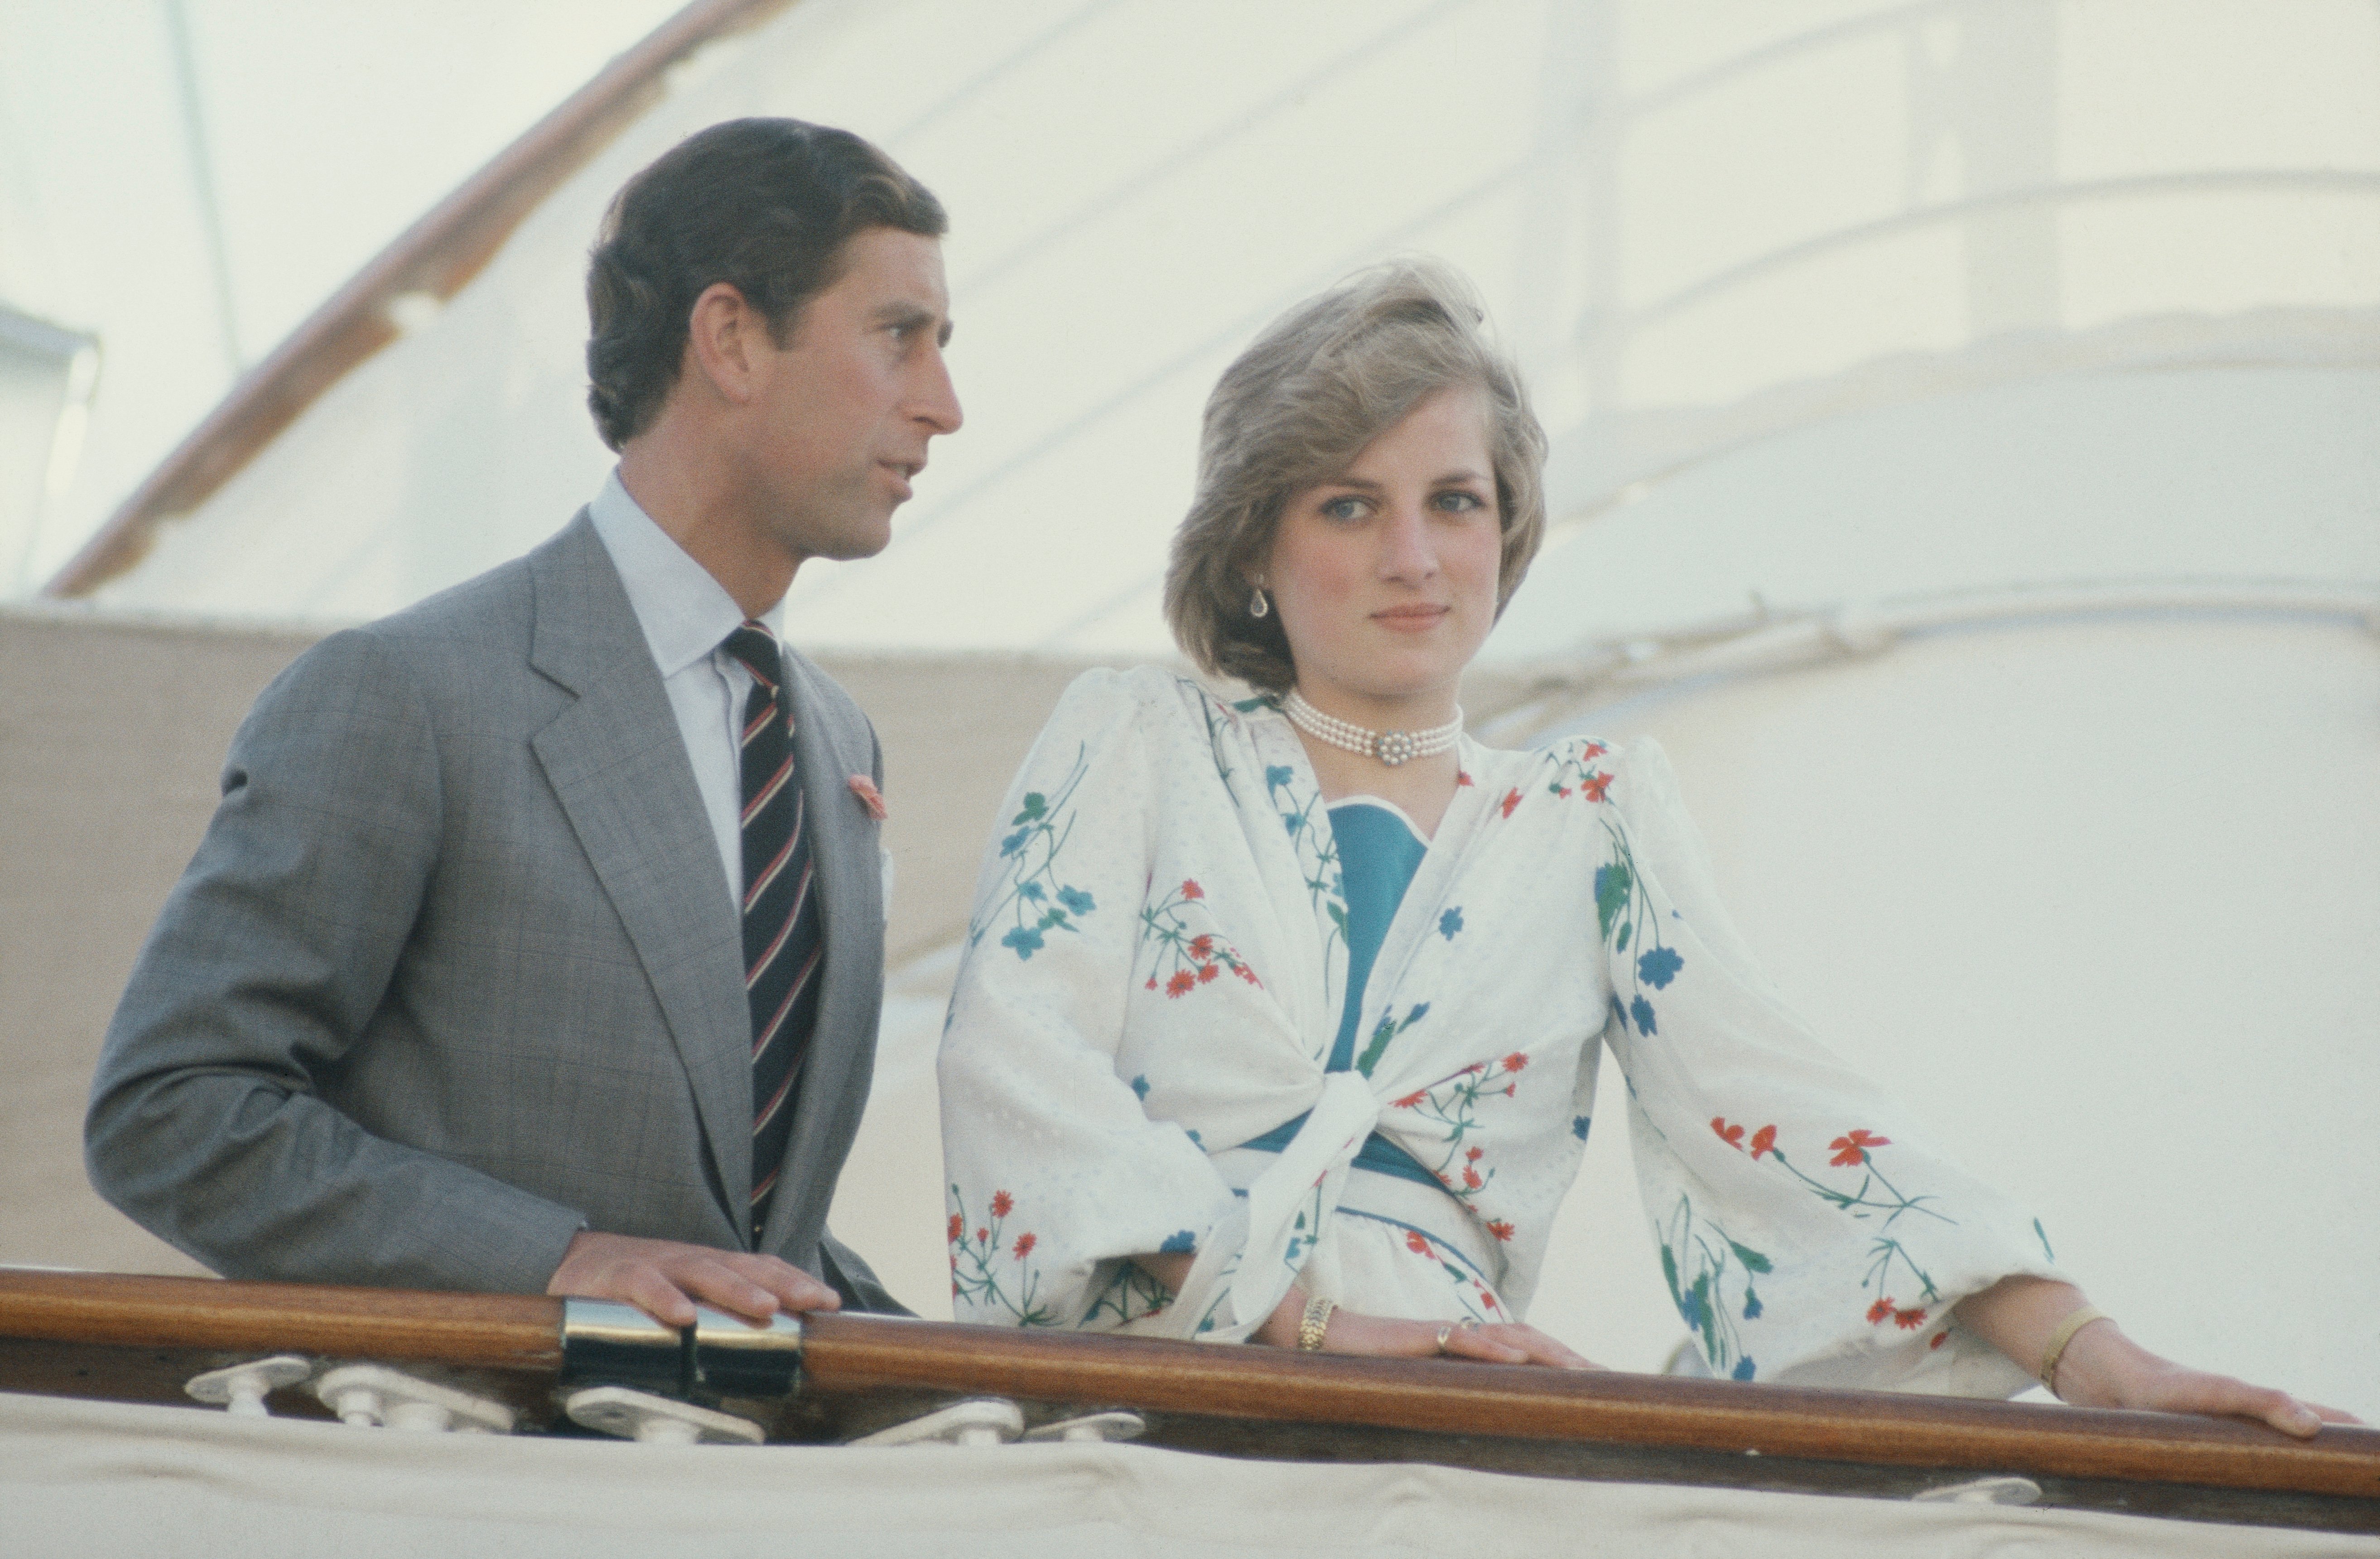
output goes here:
[[[757, 1242], [826, 1233], [883, 993], [876, 733], [788, 659], [826, 983]], [[581, 512], [302, 655], [107, 1031], [90, 1178], [240, 1278], [538, 1292], [597, 1228], [750, 1250], [743, 931], [685, 743]]]

